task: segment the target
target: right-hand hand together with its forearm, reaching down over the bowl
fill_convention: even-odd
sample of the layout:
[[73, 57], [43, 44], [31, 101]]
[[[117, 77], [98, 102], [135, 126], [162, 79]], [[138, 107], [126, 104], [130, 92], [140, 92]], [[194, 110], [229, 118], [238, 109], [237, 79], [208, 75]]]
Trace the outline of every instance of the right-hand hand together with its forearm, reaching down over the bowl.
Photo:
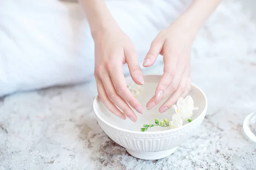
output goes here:
[[[194, 0], [184, 13], [168, 28], [161, 31], [151, 44], [143, 66], [154, 64], [157, 55], [163, 55], [164, 74], [157, 85], [155, 95], [147, 103], [147, 110], [169, 97], [159, 108], [167, 111], [180, 96], [186, 96], [191, 88], [190, 53], [192, 42], [209, 15], [221, 0]], [[170, 96], [171, 95], [171, 96]]]

